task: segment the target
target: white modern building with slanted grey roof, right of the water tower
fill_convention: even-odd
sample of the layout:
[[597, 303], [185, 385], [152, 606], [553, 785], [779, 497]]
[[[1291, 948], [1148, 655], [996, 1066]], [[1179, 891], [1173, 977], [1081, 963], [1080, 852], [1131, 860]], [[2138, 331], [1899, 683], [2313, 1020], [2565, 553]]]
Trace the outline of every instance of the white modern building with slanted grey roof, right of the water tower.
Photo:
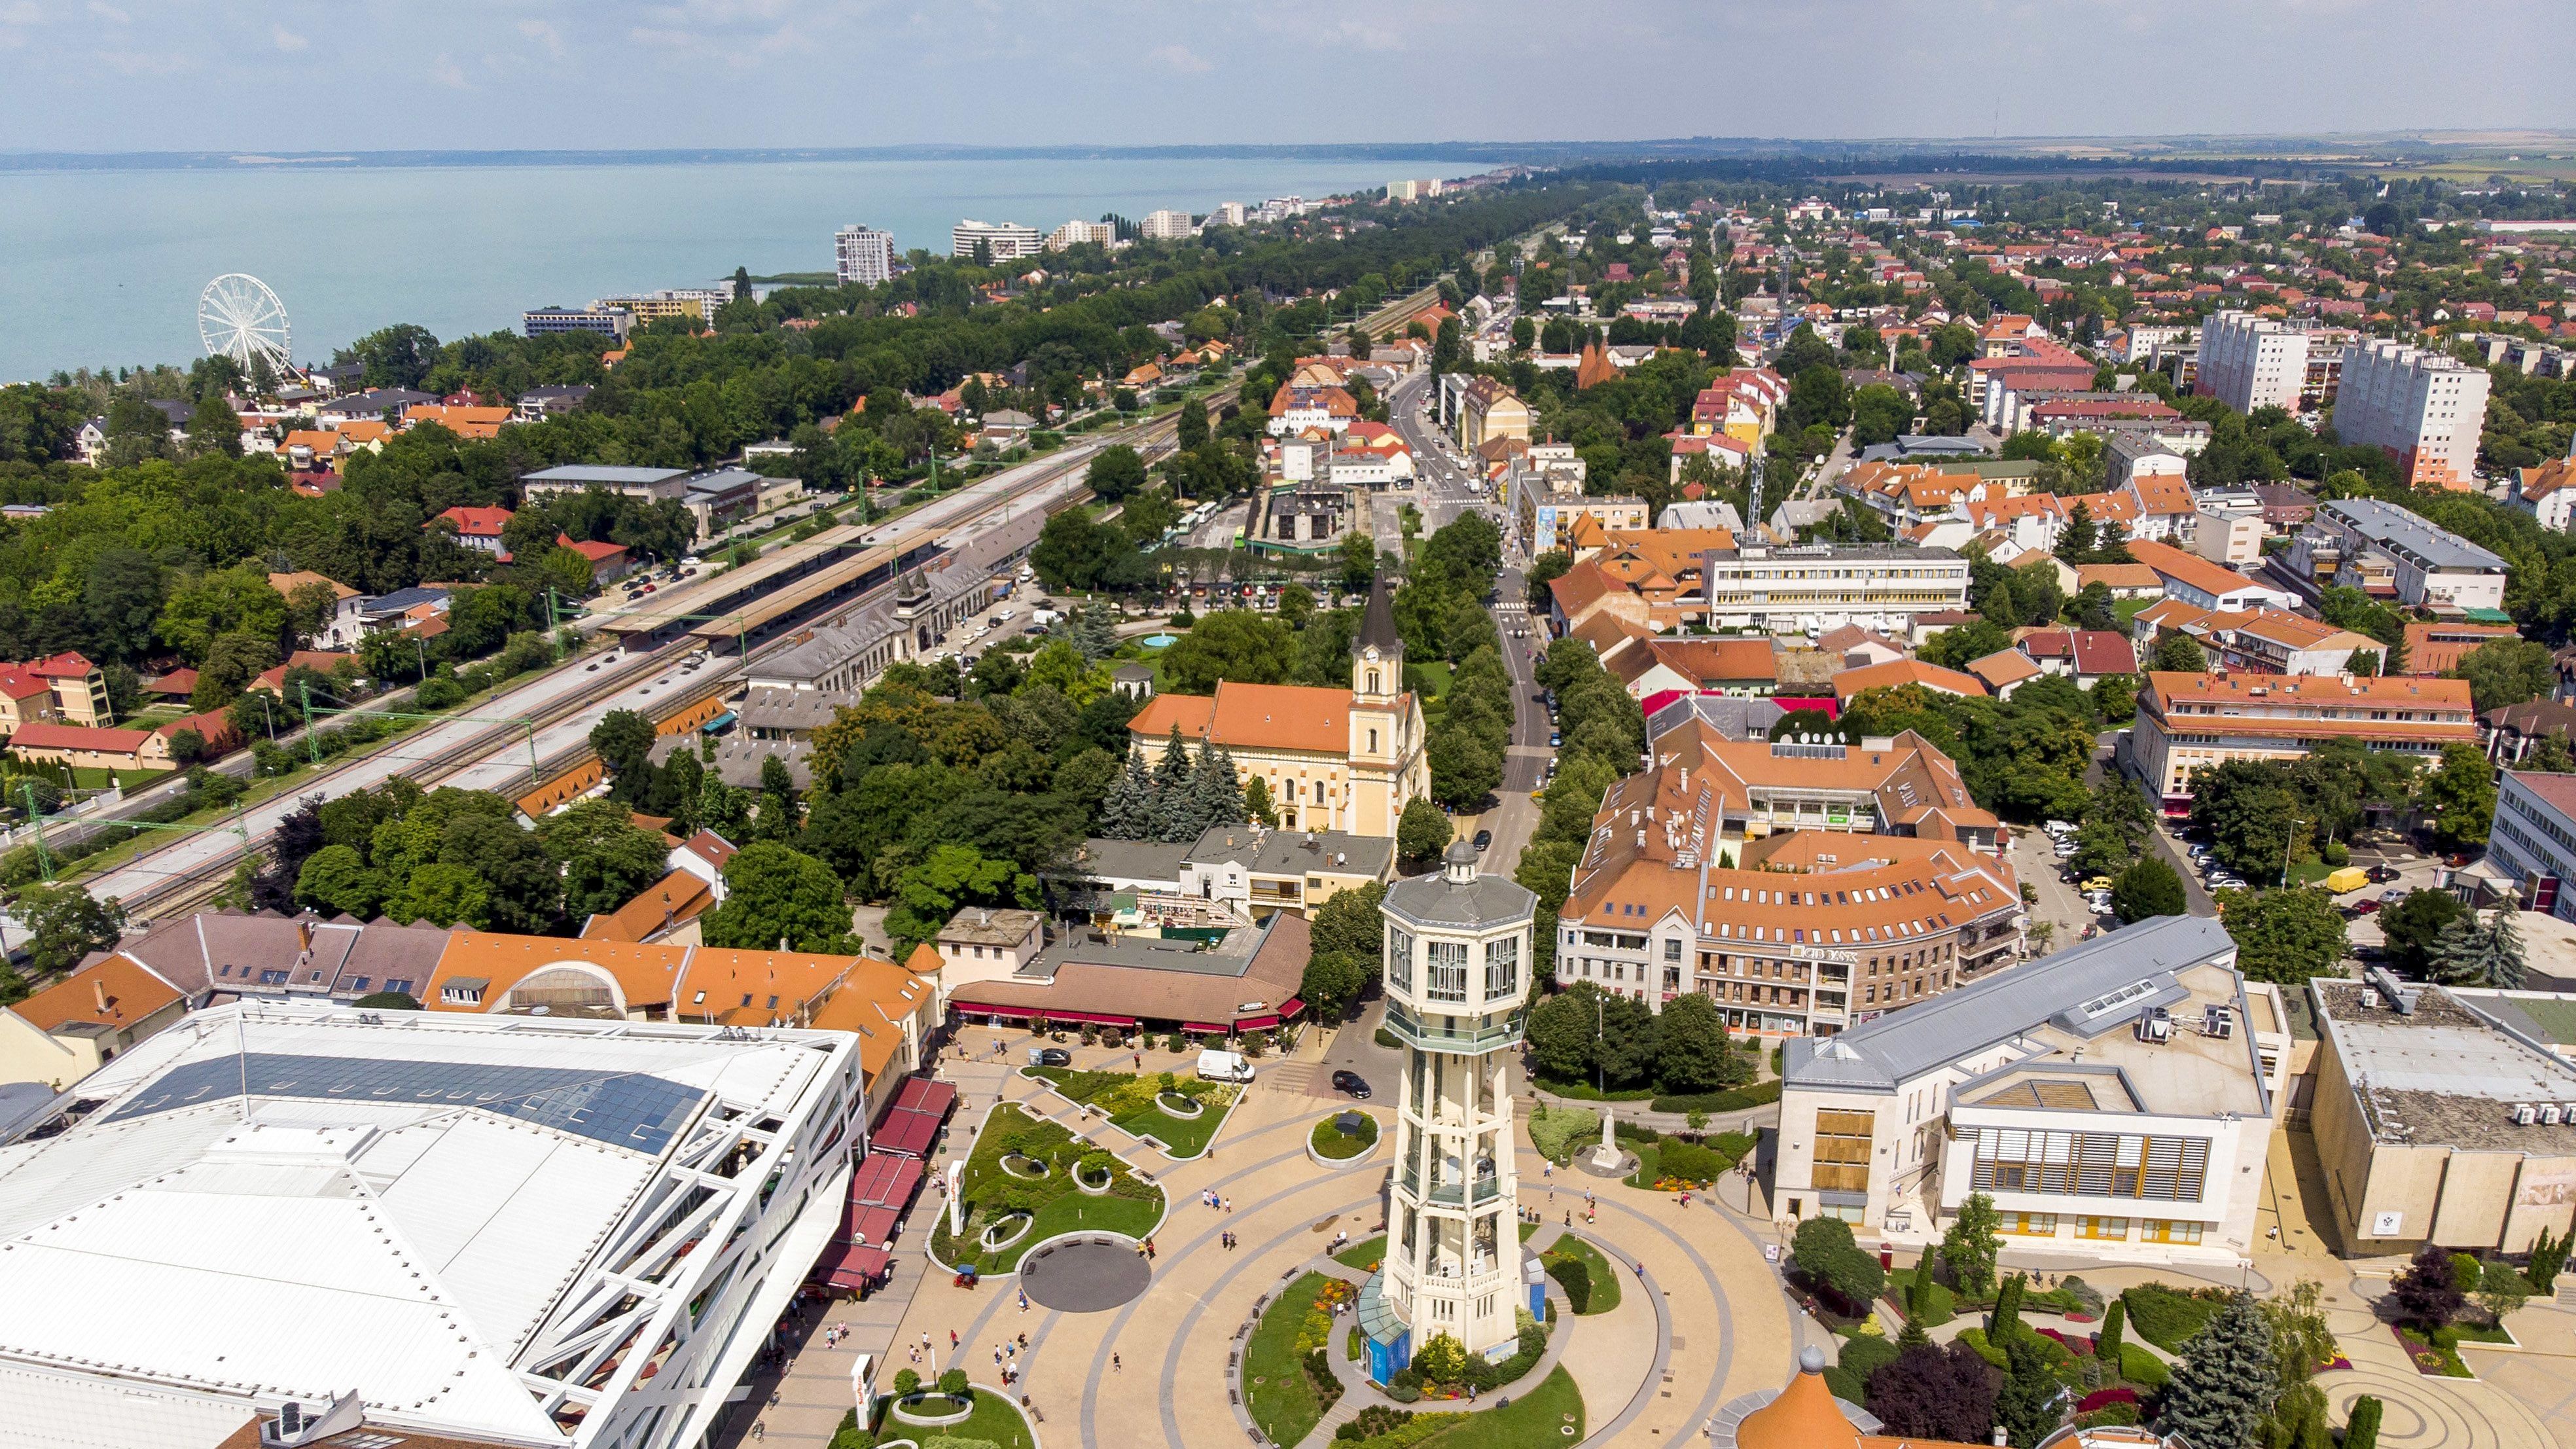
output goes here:
[[1937, 1243], [1986, 1194], [2017, 1258], [2236, 1263], [2287, 1060], [2280, 990], [2218, 920], [2123, 926], [1793, 1039], [1772, 1214]]

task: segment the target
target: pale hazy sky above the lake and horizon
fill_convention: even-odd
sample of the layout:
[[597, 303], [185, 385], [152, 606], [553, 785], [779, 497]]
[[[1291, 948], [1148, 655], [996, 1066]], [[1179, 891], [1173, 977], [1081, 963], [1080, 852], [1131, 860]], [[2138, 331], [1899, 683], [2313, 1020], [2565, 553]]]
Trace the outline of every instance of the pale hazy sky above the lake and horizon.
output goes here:
[[5, 150], [2576, 126], [2566, 0], [0, 0]]

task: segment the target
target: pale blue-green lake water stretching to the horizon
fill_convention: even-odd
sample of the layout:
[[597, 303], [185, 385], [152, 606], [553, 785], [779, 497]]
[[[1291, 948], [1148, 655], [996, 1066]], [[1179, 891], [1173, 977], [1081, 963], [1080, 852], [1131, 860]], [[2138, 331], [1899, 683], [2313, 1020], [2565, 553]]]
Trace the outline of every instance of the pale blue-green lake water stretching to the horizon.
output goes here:
[[948, 250], [963, 217], [1144, 219], [1170, 206], [1329, 196], [1455, 162], [1406, 160], [817, 160], [456, 168], [0, 170], [0, 382], [75, 366], [188, 364], [196, 299], [247, 271], [294, 322], [294, 356], [389, 322], [440, 338], [613, 291], [832, 271], [832, 232]]

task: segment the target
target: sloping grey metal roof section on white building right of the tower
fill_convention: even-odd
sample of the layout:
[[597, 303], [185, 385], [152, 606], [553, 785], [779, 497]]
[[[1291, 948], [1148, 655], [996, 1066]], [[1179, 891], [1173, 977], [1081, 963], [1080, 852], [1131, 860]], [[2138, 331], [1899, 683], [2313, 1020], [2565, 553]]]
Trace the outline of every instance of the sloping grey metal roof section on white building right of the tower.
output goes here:
[[[2166, 990], [2179, 969], [2236, 951], [2236, 941], [2208, 915], [2156, 915], [2123, 931], [2094, 936], [2053, 957], [1968, 982], [1904, 1011], [1852, 1026], [1839, 1036], [1793, 1036], [1783, 1080], [1803, 1088], [1878, 1088], [1917, 1078], [2022, 1031], [2056, 1021], [2087, 1036], [2136, 1021], [2136, 1006], [2174, 1000]], [[2138, 982], [2154, 990], [2107, 1013], [2084, 1003]]]

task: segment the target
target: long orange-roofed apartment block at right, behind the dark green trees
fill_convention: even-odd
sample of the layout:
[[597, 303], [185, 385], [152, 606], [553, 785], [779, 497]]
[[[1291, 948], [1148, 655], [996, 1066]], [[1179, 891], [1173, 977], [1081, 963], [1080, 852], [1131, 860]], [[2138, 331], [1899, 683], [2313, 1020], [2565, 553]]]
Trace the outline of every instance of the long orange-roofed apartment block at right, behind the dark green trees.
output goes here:
[[2439, 755], [2476, 745], [2468, 681], [2161, 673], [2138, 691], [2130, 763], [2169, 815], [2192, 807], [2192, 771], [2226, 761], [2300, 761], [2326, 740]]

